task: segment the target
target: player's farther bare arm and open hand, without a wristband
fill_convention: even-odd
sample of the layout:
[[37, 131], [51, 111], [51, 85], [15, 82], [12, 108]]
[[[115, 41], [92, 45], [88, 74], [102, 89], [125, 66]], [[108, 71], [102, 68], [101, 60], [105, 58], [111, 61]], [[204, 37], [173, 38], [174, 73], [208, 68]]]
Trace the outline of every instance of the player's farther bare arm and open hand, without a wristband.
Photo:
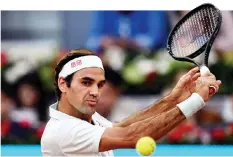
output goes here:
[[162, 112], [166, 112], [176, 104], [182, 102], [183, 100], [187, 99], [194, 91], [195, 88], [195, 81], [200, 76], [199, 68], [191, 69], [187, 74], [185, 74], [180, 81], [177, 83], [176, 87], [173, 91], [166, 96], [165, 98], [161, 99], [158, 102], [155, 102], [148, 108], [135, 113], [134, 115], [128, 117], [125, 120], [122, 120], [119, 123], [114, 123], [114, 127], [125, 127], [137, 121], [155, 116]]

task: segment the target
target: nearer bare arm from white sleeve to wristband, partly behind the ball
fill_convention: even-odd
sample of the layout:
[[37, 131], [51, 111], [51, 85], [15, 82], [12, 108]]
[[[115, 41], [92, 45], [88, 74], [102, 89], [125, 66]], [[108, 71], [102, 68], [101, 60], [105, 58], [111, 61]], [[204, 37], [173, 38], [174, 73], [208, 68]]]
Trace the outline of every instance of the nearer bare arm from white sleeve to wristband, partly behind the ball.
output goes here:
[[127, 127], [108, 128], [100, 141], [100, 152], [118, 149], [135, 148], [140, 137], [151, 136], [155, 140], [164, 136], [177, 124], [185, 120], [178, 107], [159, 115], [138, 121]]

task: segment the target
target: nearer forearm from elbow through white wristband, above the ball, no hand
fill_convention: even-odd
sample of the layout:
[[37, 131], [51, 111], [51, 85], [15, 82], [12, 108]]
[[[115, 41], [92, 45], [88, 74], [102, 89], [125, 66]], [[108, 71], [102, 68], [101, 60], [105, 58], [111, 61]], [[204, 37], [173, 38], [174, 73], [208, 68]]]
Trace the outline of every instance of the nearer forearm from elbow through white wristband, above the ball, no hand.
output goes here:
[[197, 93], [193, 93], [188, 99], [177, 104], [176, 107], [171, 110], [138, 121], [126, 127], [128, 136], [131, 140], [138, 140], [143, 136], [151, 136], [157, 140], [172, 130], [180, 122], [186, 118], [190, 118], [204, 106], [205, 103], [202, 97]]

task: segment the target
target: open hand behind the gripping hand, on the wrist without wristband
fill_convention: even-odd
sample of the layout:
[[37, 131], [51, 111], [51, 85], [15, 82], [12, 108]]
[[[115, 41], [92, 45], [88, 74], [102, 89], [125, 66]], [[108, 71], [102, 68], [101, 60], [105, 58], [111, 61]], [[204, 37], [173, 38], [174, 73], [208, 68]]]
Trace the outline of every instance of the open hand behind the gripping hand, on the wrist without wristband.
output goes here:
[[196, 80], [200, 77], [201, 74], [199, 72], [199, 68], [195, 67], [191, 69], [188, 73], [183, 75], [175, 88], [170, 93], [170, 98], [175, 104], [179, 104], [180, 102], [186, 100], [191, 96], [196, 89]]

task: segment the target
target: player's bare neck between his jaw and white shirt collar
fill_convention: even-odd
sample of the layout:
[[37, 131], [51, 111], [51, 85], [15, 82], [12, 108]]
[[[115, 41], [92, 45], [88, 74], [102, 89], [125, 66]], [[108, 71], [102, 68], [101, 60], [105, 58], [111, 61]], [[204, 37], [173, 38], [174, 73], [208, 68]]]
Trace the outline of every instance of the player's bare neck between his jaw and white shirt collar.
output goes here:
[[77, 110], [73, 105], [71, 105], [65, 98], [60, 98], [57, 110], [91, 123], [91, 115], [83, 114], [82, 112]]

